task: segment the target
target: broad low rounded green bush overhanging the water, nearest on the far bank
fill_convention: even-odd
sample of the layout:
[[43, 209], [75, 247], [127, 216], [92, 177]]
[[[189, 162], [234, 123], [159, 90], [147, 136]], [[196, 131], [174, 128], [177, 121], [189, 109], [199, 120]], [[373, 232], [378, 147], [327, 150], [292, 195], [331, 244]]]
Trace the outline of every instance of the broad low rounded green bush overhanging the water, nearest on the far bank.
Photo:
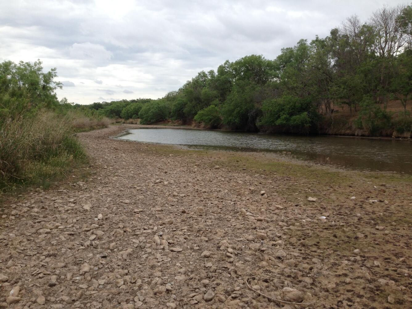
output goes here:
[[308, 132], [317, 123], [318, 113], [309, 99], [283, 96], [262, 104], [260, 126], [280, 126], [291, 131]]

